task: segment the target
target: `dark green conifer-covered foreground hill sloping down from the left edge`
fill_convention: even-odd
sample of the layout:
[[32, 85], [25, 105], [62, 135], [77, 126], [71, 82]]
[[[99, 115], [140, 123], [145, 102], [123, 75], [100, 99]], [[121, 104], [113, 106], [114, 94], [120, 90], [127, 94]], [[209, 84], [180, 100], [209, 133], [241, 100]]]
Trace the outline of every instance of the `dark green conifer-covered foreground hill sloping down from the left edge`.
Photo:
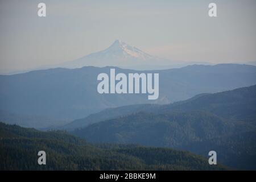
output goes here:
[[[38, 151], [47, 164], [38, 164]], [[222, 170], [190, 152], [135, 145], [93, 145], [63, 131], [42, 132], [0, 122], [1, 170]]]

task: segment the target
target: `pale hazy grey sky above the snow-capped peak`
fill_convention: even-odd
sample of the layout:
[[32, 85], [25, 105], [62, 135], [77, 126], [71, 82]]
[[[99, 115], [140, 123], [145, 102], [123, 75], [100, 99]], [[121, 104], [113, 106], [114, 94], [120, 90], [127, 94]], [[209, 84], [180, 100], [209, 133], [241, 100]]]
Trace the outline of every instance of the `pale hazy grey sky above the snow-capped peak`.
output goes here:
[[115, 39], [174, 61], [247, 63], [256, 60], [255, 18], [255, 0], [0, 0], [0, 70], [75, 60]]

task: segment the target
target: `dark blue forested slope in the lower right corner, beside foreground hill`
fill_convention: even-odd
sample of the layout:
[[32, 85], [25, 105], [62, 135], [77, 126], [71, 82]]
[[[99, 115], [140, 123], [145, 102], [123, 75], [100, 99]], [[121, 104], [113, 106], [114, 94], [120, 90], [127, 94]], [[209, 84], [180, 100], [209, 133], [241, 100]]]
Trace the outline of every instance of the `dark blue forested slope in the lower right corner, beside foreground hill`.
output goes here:
[[199, 155], [205, 155], [208, 151], [217, 151], [218, 161], [226, 166], [238, 169], [255, 170], [256, 163], [256, 132], [246, 131], [229, 135], [228, 137], [216, 137], [203, 142], [195, 142], [183, 147]]

